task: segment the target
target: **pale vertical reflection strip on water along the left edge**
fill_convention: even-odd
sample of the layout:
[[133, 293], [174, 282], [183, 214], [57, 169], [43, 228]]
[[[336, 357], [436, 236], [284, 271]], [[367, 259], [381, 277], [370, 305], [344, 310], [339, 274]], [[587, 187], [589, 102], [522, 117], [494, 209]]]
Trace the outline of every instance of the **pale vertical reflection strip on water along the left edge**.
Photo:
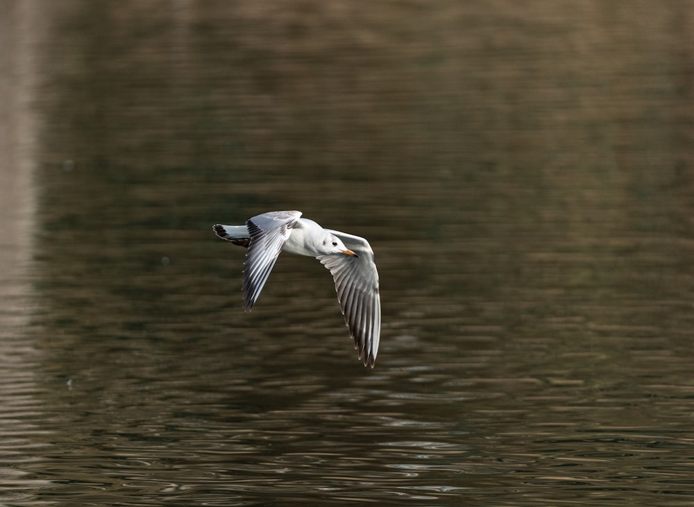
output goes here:
[[[3, 4], [4, 7], [4, 4]], [[35, 149], [35, 43], [26, 33], [31, 3], [16, 16], [0, 15], [0, 503], [51, 485], [26, 468], [45, 449], [48, 432], [36, 372], [41, 368], [35, 341], [25, 332], [31, 320], [28, 268], [33, 255], [31, 185]], [[3, 9], [4, 10], [4, 9]]]

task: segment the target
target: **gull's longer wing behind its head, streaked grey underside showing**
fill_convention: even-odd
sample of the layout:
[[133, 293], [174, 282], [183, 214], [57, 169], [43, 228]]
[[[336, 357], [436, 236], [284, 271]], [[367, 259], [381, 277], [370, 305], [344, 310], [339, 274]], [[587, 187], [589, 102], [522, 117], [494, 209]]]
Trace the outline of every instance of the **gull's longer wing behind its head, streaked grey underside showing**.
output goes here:
[[364, 360], [364, 366], [368, 363], [373, 368], [381, 332], [381, 300], [373, 250], [364, 238], [336, 230], [330, 232], [359, 257], [337, 254], [319, 255], [317, 259], [335, 280], [337, 300], [359, 359]]

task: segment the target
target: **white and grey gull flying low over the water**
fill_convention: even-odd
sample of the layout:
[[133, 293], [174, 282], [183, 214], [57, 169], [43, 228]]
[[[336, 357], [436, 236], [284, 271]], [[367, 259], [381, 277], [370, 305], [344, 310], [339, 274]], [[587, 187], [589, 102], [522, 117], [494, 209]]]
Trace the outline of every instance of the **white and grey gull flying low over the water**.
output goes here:
[[316, 257], [330, 270], [358, 358], [373, 368], [381, 331], [381, 301], [373, 250], [366, 239], [323, 229], [301, 212], [267, 212], [246, 225], [212, 226], [221, 239], [248, 248], [244, 309], [251, 311], [281, 251]]

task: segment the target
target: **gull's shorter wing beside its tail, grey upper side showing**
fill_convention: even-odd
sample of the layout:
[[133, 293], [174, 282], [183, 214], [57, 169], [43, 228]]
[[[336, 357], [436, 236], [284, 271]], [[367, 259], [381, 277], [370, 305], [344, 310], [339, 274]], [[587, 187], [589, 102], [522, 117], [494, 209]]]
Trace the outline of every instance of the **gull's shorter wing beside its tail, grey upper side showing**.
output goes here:
[[246, 222], [251, 243], [244, 261], [244, 308], [251, 311], [260, 295], [282, 246], [301, 212], [269, 212]]

